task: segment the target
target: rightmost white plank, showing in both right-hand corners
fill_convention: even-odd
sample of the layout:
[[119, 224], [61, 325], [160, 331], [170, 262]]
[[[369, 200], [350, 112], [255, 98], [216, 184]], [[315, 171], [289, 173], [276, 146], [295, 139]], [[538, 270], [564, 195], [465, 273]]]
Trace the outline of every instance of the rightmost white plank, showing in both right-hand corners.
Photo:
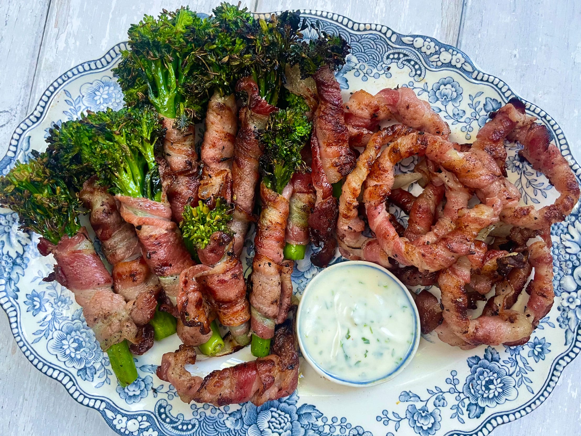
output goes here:
[[[501, 78], [560, 124], [581, 162], [581, 3], [575, 0], [467, 0], [458, 47], [486, 73]], [[533, 413], [498, 427], [497, 436], [579, 433], [581, 359]]]

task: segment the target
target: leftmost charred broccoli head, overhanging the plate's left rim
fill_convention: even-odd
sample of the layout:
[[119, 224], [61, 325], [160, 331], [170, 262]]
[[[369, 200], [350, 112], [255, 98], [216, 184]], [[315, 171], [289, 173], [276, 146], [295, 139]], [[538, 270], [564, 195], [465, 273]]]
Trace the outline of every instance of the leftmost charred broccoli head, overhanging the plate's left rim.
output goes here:
[[19, 215], [21, 230], [34, 231], [56, 245], [64, 235], [73, 237], [81, 228], [81, 202], [46, 167], [47, 160], [46, 153], [33, 151], [33, 159], [27, 163], [16, 162], [0, 177], [0, 204]]

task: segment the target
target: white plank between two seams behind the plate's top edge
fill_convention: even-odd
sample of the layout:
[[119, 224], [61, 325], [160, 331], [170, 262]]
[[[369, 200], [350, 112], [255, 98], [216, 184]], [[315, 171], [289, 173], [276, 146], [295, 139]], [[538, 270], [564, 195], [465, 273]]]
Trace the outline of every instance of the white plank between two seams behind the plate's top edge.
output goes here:
[[378, 23], [399, 33], [429, 35], [456, 42], [462, 0], [258, 0], [257, 12], [318, 9], [336, 12], [360, 23]]

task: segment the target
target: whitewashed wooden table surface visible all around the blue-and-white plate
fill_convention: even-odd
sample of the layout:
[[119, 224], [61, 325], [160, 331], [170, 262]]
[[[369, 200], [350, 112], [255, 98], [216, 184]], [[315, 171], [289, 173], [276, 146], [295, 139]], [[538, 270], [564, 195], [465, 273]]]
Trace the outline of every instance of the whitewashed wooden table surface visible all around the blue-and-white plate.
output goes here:
[[[59, 74], [126, 40], [131, 23], [184, 0], [2, 0], [0, 2], [0, 156], [17, 123]], [[217, 0], [192, 1], [209, 13]], [[400, 33], [456, 45], [487, 73], [541, 106], [560, 123], [581, 162], [581, 2], [575, 0], [251, 0], [256, 12], [321, 9]], [[495, 436], [579, 433], [581, 359], [563, 371], [535, 412]], [[95, 410], [69, 397], [17, 348], [0, 315], [0, 428], [7, 435], [113, 435]], [[379, 435], [378, 435], [379, 436]]]

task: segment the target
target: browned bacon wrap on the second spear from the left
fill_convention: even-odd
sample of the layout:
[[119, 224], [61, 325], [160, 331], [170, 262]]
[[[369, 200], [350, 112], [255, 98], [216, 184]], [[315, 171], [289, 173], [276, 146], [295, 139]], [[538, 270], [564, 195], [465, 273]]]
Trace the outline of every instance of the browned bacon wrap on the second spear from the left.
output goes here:
[[131, 302], [135, 324], [147, 324], [155, 313], [161, 285], [141, 255], [134, 227], [121, 218], [114, 197], [96, 184], [96, 178], [84, 183], [79, 196], [91, 210], [89, 221], [101, 241], [105, 258], [113, 265], [114, 291]]

